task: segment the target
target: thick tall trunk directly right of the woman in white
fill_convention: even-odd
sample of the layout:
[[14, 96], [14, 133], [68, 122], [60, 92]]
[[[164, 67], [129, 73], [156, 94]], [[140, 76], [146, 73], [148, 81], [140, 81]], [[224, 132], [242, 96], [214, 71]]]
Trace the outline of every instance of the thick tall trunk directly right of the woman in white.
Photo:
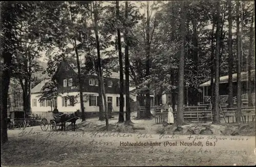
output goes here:
[[179, 57], [179, 71], [178, 71], [178, 109], [177, 109], [177, 126], [180, 126], [184, 122], [183, 110], [184, 110], [184, 57], [185, 57], [185, 40], [186, 40], [186, 30], [185, 30], [185, 16], [186, 12], [184, 10], [184, 2], [181, 2], [181, 55]]

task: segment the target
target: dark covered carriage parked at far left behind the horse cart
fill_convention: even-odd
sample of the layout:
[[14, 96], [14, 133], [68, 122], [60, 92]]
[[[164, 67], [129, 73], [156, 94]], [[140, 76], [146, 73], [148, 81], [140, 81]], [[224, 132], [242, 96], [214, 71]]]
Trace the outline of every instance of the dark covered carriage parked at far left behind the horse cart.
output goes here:
[[26, 127], [26, 113], [22, 110], [16, 110], [9, 112], [9, 118], [7, 120], [7, 128], [12, 130], [14, 128], [25, 128]]

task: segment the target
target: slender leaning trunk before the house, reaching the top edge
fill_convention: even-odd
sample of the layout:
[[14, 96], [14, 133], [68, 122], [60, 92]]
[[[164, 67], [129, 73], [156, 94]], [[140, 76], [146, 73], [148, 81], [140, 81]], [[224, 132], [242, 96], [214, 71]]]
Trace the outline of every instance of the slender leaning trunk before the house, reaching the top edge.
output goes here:
[[[94, 6], [94, 2], [91, 2]], [[99, 45], [99, 35], [98, 35], [98, 16], [97, 16], [97, 2], [95, 2], [94, 6], [94, 33], [96, 38], [96, 48], [97, 48], [97, 57], [98, 57], [98, 71], [99, 71], [99, 81], [101, 82], [100, 89], [102, 90], [102, 95], [104, 99], [104, 110], [105, 110], [105, 120], [106, 120], [106, 131], [109, 129], [109, 115], [108, 115], [108, 108], [106, 107], [106, 94], [105, 94], [105, 85], [103, 82], [103, 76], [101, 72], [101, 58], [100, 58], [100, 45]]]

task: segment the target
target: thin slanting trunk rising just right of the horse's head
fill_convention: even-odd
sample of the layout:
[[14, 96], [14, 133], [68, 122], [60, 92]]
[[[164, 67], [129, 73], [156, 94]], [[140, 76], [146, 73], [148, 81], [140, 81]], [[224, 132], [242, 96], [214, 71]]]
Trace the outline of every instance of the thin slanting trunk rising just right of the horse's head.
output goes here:
[[77, 63], [77, 70], [78, 70], [78, 82], [79, 82], [79, 94], [80, 94], [82, 121], [86, 121], [86, 114], [84, 113], [84, 106], [83, 106], [83, 93], [82, 93], [82, 79], [81, 79], [81, 71], [80, 71], [80, 62], [79, 62], [79, 55], [78, 55], [78, 50], [77, 50], [77, 46], [76, 46], [76, 39], [74, 39], [74, 44], [75, 44], [76, 63]]

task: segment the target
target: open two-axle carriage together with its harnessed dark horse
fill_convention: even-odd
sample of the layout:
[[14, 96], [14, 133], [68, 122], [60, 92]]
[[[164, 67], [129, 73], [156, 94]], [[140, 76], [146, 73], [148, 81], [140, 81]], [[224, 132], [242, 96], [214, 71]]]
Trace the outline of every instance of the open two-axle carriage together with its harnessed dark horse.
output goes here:
[[[46, 131], [49, 126], [51, 131], [56, 130], [74, 130], [75, 122], [80, 118], [80, 110], [71, 114], [58, 113], [54, 114], [53, 112], [45, 112], [41, 115], [40, 127], [42, 131]], [[67, 126], [67, 128], [66, 128]], [[70, 129], [71, 127], [71, 129]]]

